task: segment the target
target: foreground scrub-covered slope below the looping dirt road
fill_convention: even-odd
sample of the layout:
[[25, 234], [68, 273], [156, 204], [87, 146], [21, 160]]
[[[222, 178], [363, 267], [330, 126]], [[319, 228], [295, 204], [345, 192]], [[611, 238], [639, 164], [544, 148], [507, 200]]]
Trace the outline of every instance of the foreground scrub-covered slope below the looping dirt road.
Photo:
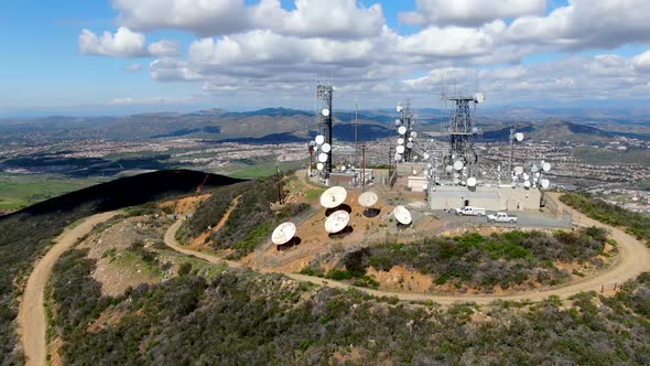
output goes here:
[[102, 297], [94, 262], [67, 252], [51, 281], [64, 364], [650, 363], [650, 274], [614, 298], [490, 308], [405, 303], [231, 269], [188, 271]]

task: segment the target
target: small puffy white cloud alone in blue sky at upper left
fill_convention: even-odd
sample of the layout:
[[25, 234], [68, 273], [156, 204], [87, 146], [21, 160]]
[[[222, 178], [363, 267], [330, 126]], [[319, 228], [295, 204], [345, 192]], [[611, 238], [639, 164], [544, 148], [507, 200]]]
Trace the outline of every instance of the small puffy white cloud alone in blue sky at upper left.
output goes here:
[[90, 55], [111, 57], [142, 57], [148, 52], [144, 47], [144, 35], [120, 26], [113, 34], [104, 32], [101, 36], [85, 29], [79, 34], [79, 51]]

